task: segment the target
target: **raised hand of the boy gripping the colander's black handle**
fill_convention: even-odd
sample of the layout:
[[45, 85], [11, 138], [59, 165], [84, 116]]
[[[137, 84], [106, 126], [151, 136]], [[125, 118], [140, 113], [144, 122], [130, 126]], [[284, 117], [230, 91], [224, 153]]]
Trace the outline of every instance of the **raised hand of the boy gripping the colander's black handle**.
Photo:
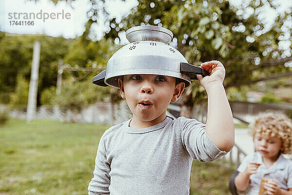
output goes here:
[[207, 61], [201, 63], [201, 68], [205, 69], [210, 75], [206, 77], [197, 75], [198, 80], [205, 89], [212, 83], [223, 83], [225, 77], [225, 68], [221, 62], [217, 60]]

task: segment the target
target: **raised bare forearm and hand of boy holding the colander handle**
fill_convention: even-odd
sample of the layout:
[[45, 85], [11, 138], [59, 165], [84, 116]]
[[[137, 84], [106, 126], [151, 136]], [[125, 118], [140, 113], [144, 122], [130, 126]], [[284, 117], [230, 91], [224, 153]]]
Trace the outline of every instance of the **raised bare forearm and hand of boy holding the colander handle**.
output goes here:
[[231, 108], [223, 86], [225, 69], [221, 62], [204, 62], [201, 67], [210, 76], [197, 75], [208, 95], [206, 133], [223, 151], [230, 151], [234, 145], [234, 123]]

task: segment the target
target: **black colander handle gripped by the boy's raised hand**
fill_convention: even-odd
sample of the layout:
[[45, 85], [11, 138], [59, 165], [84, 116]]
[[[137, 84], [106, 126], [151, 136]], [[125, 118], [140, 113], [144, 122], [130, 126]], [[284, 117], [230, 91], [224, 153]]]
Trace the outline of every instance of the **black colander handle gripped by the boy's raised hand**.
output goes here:
[[198, 79], [197, 75], [202, 75], [203, 77], [209, 76], [209, 73], [205, 69], [186, 62], [181, 62], [181, 73], [191, 78], [191, 80]]

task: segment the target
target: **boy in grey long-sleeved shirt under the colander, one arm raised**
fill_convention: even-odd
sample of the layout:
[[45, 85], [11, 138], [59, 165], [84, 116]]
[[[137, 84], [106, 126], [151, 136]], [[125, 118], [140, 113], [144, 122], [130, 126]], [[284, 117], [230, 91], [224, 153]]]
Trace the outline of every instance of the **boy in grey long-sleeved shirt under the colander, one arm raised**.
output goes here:
[[184, 82], [162, 75], [125, 75], [118, 79], [133, 118], [101, 137], [89, 195], [188, 195], [193, 159], [211, 161], [231, 150], [234, 123], [223, 87], [225, 69], [213, 60], [197, 75], [208, 95], [206, 125], [166, 116]]

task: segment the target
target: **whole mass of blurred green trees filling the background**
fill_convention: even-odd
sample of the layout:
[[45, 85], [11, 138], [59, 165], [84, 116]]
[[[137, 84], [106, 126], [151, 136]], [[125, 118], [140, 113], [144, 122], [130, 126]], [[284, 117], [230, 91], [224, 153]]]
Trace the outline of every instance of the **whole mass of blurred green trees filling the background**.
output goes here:
[[[54, 3], [57, 1], [53, 0]], [[38, 104], [58, 103], [81, 107], [104, 98], [110, 98], [113, 102], [119, 101], [121, 98], [118, 90], [93, 86], [91, 78], [106, 68], [110, 56], [121, 47], [114, 44], [118, 43], [119, 36], [132, 26], [144, 24], [170, 29], [174, 34], [170, 44], [189, 63], [199, 65], [203, 61], [220, 60], [226, 68], [224, 86], [232, 100], [246, 98], [245, 93], [250, 89], [244, 86], [255, 86], [250, 81], [292, 72], [289, 62], [292, 61], [291, 48], [283, 51], [278, 46], [284, 40], [291, 42], [289, 32], [292, 27], [286, 25], [292, 20], [291, 7], [278, 14], [272, 26], [266, 27], [259, 13], [265, 6], [276, 10], [278, 5], [275, 0], [251, 0], [239, 7], [231, 6], [227, 0], [138, 2], [138, 6], [128, 16], [119, 20], [109, 15], [105, 0], [91, 0], [86, 30], [76, 39], [49, 36], [9, 37], [0, 32], [0, 103], [25, 103], [26, 88], [21, 88], [18, 77], [27, 82], [30, 80], [35, 40], [41, 43]], [[247, 10], [251, 11], [246, 12]], [[110, 30], [102, 40], [92, 41], [89, 39], [94, 36], [91, 25], [97, 22], [100, 14], [105, 16], [105, 25]], [[77, 71], [63, 68], [61, 95], [56, 96], [57, 66], [60, 59], [66, 66], [76, 68]], [[91, 68], [92, 71], [78, 71], [82, 67]], [[289, 87], [291, 82], [285, 82], [285, 85]], [[23, 97], [20, 98], [18, 94]], [[206, 93], [198, 81], [193, 81], [192, 88], [185, 91], [182, 100], [182, 104], [189, 106], [205, 103]]]

